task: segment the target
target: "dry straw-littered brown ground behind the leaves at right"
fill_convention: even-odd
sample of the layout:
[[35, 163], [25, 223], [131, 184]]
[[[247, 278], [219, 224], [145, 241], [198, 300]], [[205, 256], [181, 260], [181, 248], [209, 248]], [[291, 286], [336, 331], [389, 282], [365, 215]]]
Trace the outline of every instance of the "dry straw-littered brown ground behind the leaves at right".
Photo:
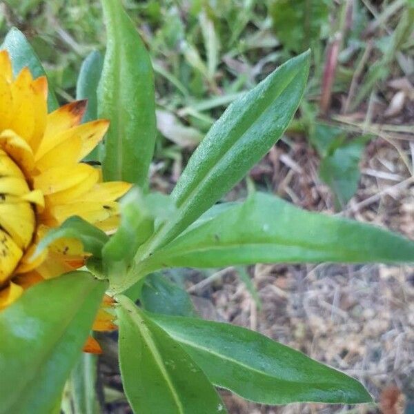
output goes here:
[[[366, 148], [357, 194], [342, 214], [414, 238], [414, 141], [375, 139]], [[252, 175], [304, 208], [333, 213], [317, 158], [301, 140], [279, 143]], [[371, 406], [257, 406], [223, 393], [231, 414], [404, 413], [414, 400], [414, 268], [262, 265], [249, 269], [258, 310], [233, 268], [191, 286], [201, 313], [246, 326], [361, 381]], [[202, 279], [200, 279], [202, 280]], [[213, 306], [211, 306], [211, 304]], [[413, 408], [411, 407], [411, 410]]]

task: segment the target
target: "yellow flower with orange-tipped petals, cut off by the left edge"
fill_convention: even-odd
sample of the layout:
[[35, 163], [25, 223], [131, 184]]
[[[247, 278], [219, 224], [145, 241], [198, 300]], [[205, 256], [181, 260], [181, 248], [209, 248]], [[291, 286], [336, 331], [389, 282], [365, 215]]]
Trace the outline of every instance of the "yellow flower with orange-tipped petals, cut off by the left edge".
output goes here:
[[32, 259], [50, 228], [78, 215], [115, 230], [115, 200], [130, 188], [102, 183], [100, 170], [81, 162], [108, 121], [80, 124], [86, 101], [48, 114], [47, 95], [46, 77], [32, 79], [23, 68], [14, 79], [8, 52], [0, 51], [0, 309], [32, 284], [83, 265], [81, 244], [73, 239], [61, 239]]

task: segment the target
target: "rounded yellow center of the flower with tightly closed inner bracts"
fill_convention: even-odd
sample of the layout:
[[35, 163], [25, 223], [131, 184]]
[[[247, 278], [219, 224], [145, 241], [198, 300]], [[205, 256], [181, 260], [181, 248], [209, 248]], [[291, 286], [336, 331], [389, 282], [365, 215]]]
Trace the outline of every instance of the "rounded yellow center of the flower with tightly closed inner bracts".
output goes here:
[[17, 270], [36, 226], [26, 177], [0, 148], [0, 286]]

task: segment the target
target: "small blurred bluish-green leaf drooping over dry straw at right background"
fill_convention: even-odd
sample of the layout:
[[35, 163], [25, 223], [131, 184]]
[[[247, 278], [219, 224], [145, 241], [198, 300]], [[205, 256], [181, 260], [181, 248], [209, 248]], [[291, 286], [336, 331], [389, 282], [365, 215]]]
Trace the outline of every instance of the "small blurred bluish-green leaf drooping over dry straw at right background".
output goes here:
[[358, 188], [359, 161], [368, 138], [363, 135], [346, 141], [322, 159], [319, 175], [333, 190], [337, 210], [344, 208]]

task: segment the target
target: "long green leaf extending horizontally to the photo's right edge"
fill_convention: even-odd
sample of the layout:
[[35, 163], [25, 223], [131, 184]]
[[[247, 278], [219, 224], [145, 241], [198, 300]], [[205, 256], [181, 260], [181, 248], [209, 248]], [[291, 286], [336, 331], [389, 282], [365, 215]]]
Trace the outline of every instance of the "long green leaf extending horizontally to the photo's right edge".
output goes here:
[[161, 267], [257, 262], [414, 262], [414, 242], [375, 226], [310, 213], [273, 195], [256, 193], [193, 226], [136, 271], [142, 275]]

